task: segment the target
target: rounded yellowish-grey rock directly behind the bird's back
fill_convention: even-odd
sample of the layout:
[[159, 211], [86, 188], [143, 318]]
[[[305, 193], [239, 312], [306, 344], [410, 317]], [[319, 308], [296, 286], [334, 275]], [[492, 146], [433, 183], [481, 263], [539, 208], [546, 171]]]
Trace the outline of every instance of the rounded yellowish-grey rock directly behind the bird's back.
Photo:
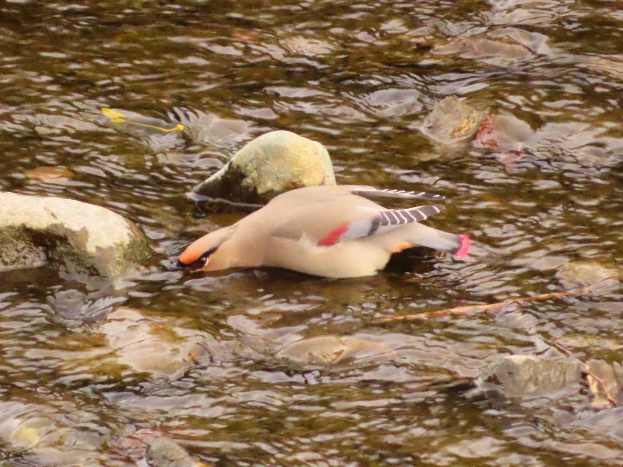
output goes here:
[[335, 185], [329, 154], [317, 141], [290, 131], [258, 136], [193, 191], [239, 202], [268, 202], [295, 188]]

